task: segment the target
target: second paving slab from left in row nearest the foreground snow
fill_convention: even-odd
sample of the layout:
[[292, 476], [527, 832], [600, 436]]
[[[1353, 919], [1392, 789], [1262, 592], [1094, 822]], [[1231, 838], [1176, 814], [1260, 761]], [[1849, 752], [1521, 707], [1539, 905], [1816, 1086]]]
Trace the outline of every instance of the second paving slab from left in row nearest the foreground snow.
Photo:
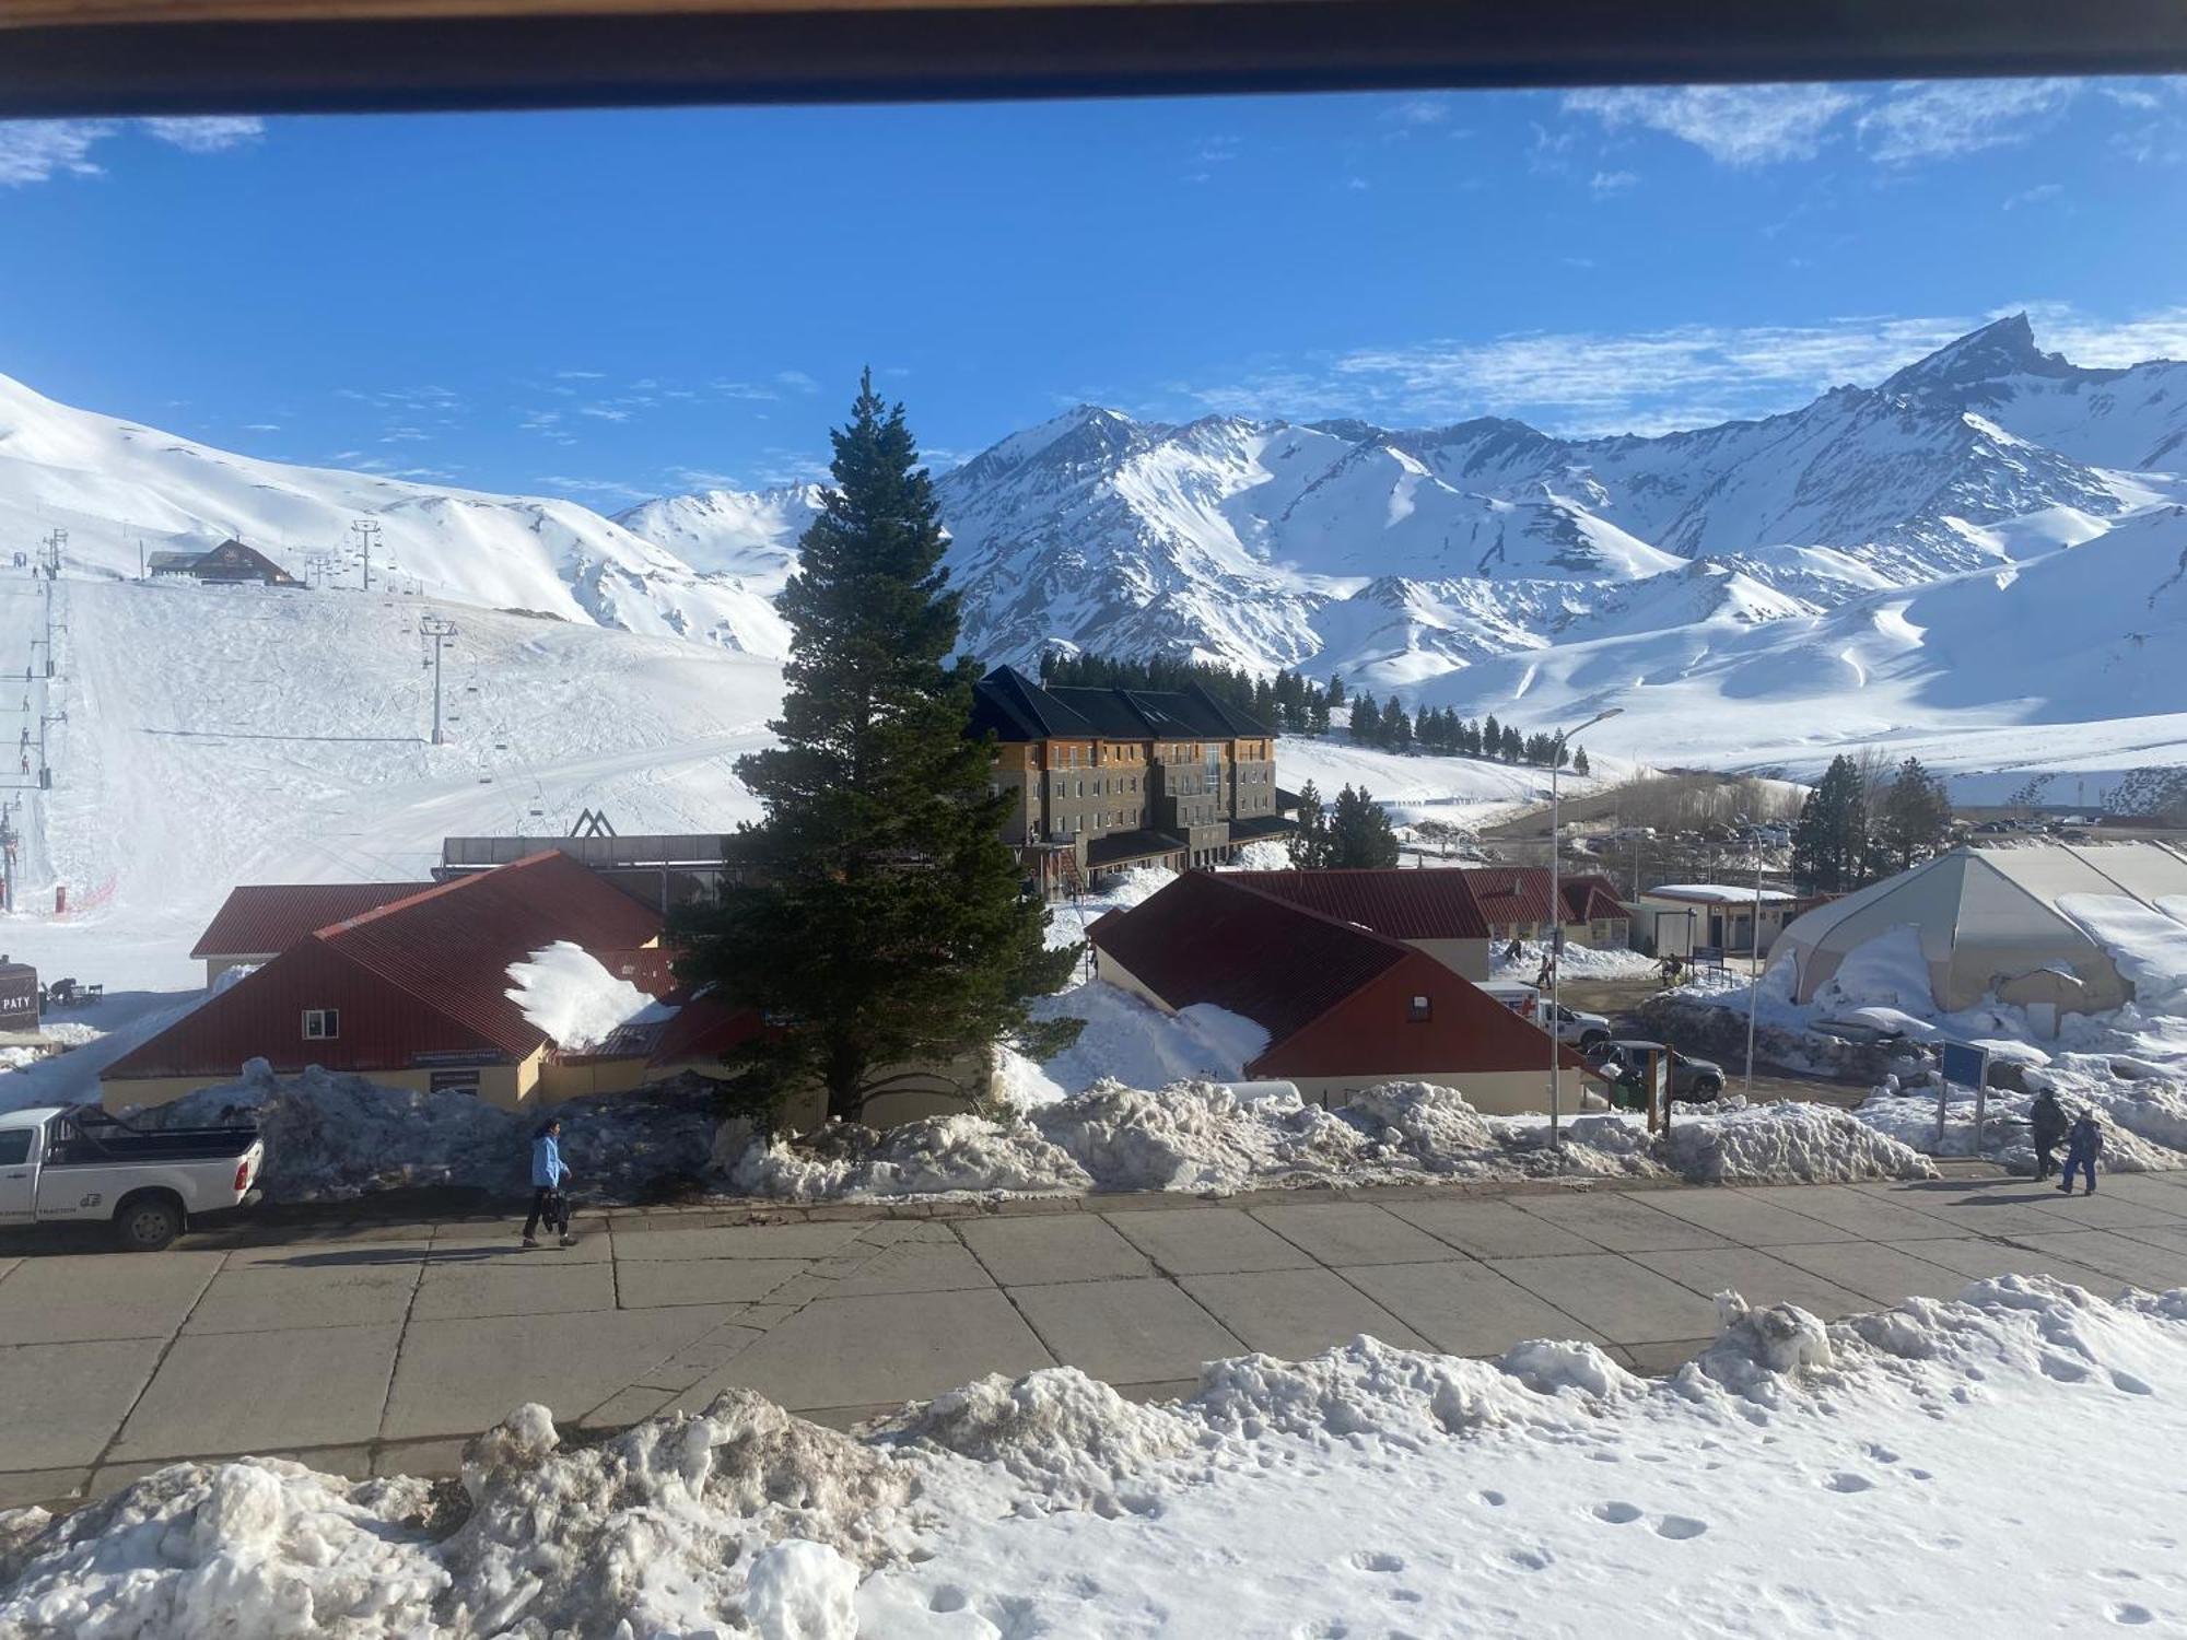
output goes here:
[[107, 1454], [182, 1459], [339, 1445], [378, 1434], [402, 1329], [184, 1334]]

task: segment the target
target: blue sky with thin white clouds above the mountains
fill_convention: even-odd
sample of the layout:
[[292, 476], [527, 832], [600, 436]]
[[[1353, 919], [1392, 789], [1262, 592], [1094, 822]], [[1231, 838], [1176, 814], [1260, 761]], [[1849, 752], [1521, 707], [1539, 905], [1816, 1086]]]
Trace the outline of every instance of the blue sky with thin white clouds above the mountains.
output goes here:
[[1662, 431], [2187, 356], [2187, 81], [0, 125], [0, 372], [599, 507], [1078, 400]]

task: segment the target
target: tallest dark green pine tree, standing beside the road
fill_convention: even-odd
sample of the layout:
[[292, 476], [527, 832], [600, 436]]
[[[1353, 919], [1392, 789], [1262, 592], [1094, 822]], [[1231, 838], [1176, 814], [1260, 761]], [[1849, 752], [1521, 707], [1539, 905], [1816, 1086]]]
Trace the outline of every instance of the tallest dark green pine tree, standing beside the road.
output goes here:
[[678, 916], [678, 973], [720, 984], [774, 1030], [735, 1061], [730, 1096], [776, 1111], [800, 1087], [855, 1122], [905, 1067], [1010, 1041], [1045, 1056], [1080, 1021], [1034, 1023], [1078, 947], [1045, 949], [1002, 844], [1010, 796], [964, 735], [973, 665], [949, 663], [934, 485], [901, 405], [873, 374], [833, 433], [835, 483], [776, 608], [792, 630], [779, 746], [737, 761], [765, 807], [737, 840], [750, 881]]

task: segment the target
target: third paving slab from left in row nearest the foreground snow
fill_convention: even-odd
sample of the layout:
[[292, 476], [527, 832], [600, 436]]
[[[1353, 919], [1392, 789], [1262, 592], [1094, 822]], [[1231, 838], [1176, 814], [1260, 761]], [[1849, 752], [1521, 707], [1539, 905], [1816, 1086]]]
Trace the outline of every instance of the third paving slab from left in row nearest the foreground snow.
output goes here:
[[580, 1419], [730, 1319], [735, 1305], [411, 1321], [381, 1437], [477, 1434], [523, 1402]]

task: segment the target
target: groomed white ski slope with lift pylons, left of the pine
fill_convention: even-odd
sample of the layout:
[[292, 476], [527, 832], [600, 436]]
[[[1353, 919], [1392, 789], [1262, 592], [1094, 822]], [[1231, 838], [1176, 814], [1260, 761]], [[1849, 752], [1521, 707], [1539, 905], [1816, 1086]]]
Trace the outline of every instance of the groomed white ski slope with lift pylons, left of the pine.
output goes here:
[[[0, 936], [48, 973], [192, 984], [186, 953], [234, 883], [416, 879], [444, 835], [560, 835], [586, 807], [619, 831], [757, 813], [733, 765], [768, 739], [770, 660], [376, 593], [59, 588], [68, 722]], [[424, 610], [457, 625], [442, 746]], [[28, 577], [0, 582], [0, 671], [35, 614]], [[52, 918], [55, 886], [83, 910]]]

